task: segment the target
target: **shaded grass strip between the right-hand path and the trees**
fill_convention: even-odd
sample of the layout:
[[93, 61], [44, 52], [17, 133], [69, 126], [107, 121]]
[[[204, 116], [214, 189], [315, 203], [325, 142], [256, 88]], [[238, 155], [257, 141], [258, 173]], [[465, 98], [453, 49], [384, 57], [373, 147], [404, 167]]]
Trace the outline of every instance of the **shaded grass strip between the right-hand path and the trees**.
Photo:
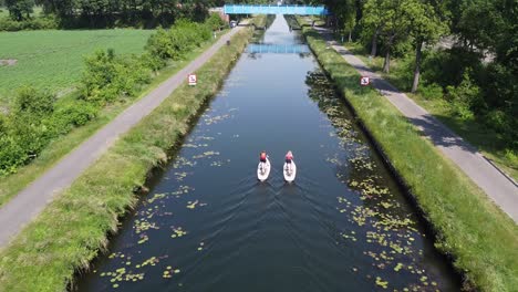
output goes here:
[[[450, 129], [477, 147], [487, 158], [493, 160], [507, 175], [518, 180], [518, 155], [508, 148], [508, 145], [495, 129], [486, 126], [476, 118], [460, 118], [452, 113], [452, 106], [443, 98], [442, 92], [428, 92], [426, 96], [417, 91], [415, 94], [407, 92], [408, 77], [407, 64], [414, 59], [391, 60], [391, 73], [383, 73], [383, 58], [375, 56], [369, 60], [369, 53], [359, 43], [343, 43], [354, 55], [360, 58], [369, 67], [381, 74], [401, 91], [424, 107], [428, 113], [437, 117]], [[423, 85], [421, 85], [423, 87]]]

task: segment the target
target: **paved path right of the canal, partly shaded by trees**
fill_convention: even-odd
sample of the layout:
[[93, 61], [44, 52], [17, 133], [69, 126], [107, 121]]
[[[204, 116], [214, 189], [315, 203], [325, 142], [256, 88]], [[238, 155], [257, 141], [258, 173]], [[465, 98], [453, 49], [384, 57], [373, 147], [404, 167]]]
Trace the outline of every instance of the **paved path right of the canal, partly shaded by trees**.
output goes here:
[[[318, 29], [321, 33], [329, 33]], [[331, 40], [331, 38], [329, 38]], [[371, 71], [365, 63], [354, 56], [344, 46], [330, 42], [361, 75], [370, 76], [372, 85], [377, 88], [412, 124], [417, 126], [433, 144], [452, 159], [468, 177], [475, 181], [497, 206], [518, 223], [518, 186], [496, 166], [490, 164], [475, 147], [463, 140], [448, 127], [432, 116], [414, 101], [401, 93], [380, 74]]]

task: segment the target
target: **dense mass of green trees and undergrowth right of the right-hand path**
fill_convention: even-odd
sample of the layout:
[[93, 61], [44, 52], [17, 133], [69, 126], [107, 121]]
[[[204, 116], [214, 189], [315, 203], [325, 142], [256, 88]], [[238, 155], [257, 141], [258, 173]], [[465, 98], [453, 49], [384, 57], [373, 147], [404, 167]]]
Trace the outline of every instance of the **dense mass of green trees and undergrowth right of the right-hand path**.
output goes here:
[[403, 90], [445, 100], [453, 115], [484, 122], [518, 153], [517, 1], [303, 2], [325, 4], [338, 32], [384, 56], [385, 73], [398, 58]]

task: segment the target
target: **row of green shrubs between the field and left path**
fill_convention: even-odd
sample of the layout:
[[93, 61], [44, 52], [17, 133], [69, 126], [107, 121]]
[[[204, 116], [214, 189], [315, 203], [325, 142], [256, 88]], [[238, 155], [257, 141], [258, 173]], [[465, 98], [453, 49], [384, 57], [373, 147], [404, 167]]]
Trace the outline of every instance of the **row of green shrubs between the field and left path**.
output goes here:
[[219, 17], [205, 23], [178, 21], [169, 30], [160, 29], [151, 35], [141, 55], [117, 55], [113, 50], [93, 53], [85, 59], [75, 98], [58, 101], [48, 92], [21, 88], [11, 111], [0, 114], [0, 177], [17, 173], [51, 140], [94, 119], [105, 106], [137, 97], [167, 62], [179, 62], [209, 41], [218, 24], [215, 21]]

